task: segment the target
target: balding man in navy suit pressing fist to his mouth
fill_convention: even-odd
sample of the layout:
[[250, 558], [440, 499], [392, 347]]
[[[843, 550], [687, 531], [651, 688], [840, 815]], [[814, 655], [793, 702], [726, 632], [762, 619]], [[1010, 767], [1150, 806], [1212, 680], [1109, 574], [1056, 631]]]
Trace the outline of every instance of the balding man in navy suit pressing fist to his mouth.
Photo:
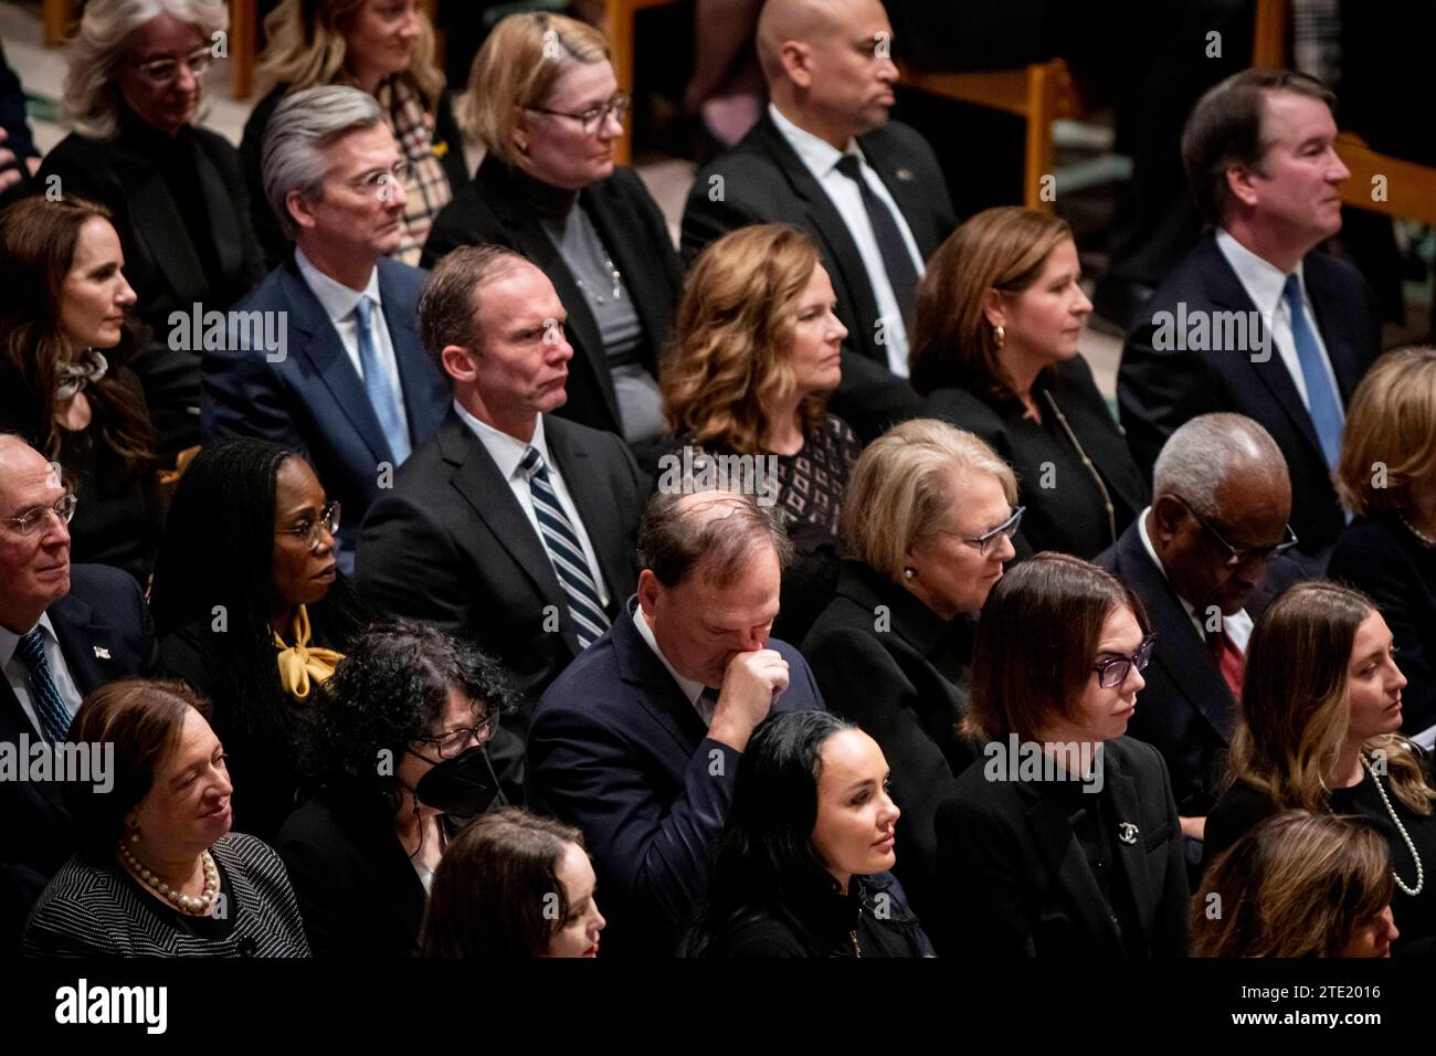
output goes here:
[[752, 728], [773, 710], [823, 707], [798, 651], [768, 638], [790, 553], [750, 496], [655, 494], [638, 598], [538, 703], [530, 803], [583, 829], [610, 951], [672, 955]]

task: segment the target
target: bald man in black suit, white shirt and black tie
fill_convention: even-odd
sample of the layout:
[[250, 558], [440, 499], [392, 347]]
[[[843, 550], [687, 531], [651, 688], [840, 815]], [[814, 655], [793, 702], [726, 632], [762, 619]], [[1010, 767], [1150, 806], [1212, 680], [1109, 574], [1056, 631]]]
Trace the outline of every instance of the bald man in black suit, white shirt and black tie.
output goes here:
[[956, 226], [932, 148], [887, 121], [892, 36], [877, 0], [770, 0], [758, 59], [773, 102], [698, 174], [682, 228], [689, 260], [747, 224], [813, 236], [849, 332], [833, 408], [864, 438], [916, 412], [903, 381], [913, 295]]

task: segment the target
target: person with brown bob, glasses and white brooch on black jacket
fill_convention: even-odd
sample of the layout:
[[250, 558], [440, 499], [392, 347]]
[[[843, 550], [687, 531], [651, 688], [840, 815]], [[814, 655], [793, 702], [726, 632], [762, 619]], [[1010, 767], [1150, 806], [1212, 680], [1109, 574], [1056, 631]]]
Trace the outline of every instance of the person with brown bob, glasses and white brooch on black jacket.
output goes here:
[[938, 807], [938, 953], [1186, 954], [1186, 862], [1166, 763], [1126, 737], [1152, 655], [1142, 602], [1064, 553], [1011, 569], [978, 621], [978, 761]]

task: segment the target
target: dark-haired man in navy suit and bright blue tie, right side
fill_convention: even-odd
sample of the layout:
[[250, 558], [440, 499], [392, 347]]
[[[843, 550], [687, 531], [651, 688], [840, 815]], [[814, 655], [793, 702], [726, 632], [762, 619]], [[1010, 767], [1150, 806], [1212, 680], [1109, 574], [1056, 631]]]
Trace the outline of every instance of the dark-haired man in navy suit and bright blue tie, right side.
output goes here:
[[1122, 424], [1149, 468], [1199, 414], [1235, 411], [1287, 457], [1300, 555], [1320, 573], [1344, 522], [1331, 486], [1344, 405], [1380, 355], [1361, 276], [1314, 253], [1341, 227], [1331, 93], [1285, 70], [1244, 70], [1192, 111], [1188, 178], [1215, 237], [1139, 313], [1117, 372]]

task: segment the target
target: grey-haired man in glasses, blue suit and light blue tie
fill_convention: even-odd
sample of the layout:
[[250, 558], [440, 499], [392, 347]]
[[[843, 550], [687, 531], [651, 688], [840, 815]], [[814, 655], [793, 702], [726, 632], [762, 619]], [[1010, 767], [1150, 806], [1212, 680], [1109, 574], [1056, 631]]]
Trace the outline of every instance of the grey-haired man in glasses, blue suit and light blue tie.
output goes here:
[[345, 572], [369, 504], [448, 407], [416, 330], [424, 272], [388, 259], [401, 237], [402, 157], [358, 89], [286, 99], [270, 122], [264, 185], [296, 250], [236, 307], [263, 320], [263, 339], [231, 325], [228, 348], [204, 355], [205, 438], [300, 451], [342, 503]]

